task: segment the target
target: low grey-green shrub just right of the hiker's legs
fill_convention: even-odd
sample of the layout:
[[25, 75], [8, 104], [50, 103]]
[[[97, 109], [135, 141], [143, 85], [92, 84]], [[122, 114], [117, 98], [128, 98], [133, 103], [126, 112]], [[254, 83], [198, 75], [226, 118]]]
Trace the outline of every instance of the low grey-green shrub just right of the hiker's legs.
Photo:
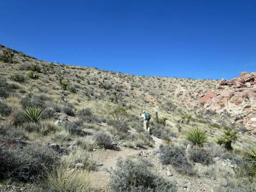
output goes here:
[[170, 140], [170, 138], [176, 137], [176, 133], [172, 132], [169, 127], [164, 127], [157, 123], [150, 127], [150, 131], [155, 137], [163, 140]]

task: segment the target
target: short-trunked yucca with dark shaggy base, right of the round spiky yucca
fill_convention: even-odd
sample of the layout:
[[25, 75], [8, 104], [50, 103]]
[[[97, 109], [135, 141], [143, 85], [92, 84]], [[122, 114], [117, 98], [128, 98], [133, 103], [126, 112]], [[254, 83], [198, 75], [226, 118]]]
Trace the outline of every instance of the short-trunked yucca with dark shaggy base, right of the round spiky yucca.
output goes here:
[[237, 139], [237, 131], [231, 130], [230, 128], [225, 129], [224, 136], [217, 138], [217, 144], [224, 146], [227, 150], [233, 150], [232, 142]]

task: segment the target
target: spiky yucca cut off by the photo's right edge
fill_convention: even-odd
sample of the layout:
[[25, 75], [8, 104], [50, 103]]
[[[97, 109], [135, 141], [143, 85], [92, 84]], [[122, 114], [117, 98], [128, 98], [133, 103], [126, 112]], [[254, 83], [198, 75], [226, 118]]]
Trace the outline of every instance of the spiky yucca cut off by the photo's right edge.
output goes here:
[[252, 176], [256, 176], [256, 147], [247, 149], [243, 160], [248, 167], [248, 172]]

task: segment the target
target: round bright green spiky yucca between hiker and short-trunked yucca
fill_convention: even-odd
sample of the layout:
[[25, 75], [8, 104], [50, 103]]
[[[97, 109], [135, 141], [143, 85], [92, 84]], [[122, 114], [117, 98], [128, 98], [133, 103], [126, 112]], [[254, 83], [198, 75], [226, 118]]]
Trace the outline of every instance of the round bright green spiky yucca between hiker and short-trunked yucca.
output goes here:
[[195, 128], [187, 134], [187, 140], [197, 147], [203, 147], [208, 142], [206, 131]]

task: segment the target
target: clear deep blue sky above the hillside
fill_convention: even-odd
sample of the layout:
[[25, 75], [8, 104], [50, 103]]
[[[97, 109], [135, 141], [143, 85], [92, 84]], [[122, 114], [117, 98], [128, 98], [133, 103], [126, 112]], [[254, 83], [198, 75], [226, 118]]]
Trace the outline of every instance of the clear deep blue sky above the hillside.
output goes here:
[[256, 71], [256, 1], [2, 0], [0, 44], [135, 75]]

